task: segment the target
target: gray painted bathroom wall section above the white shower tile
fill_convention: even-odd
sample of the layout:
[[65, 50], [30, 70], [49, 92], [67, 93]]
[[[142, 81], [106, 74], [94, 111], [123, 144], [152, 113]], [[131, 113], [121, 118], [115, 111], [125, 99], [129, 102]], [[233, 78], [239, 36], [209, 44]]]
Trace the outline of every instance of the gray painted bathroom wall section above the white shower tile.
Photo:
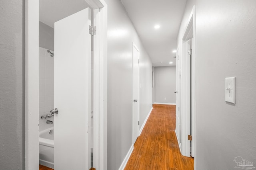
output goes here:
[[54, 51], [54, 29], [39, 21], [39, 47]]

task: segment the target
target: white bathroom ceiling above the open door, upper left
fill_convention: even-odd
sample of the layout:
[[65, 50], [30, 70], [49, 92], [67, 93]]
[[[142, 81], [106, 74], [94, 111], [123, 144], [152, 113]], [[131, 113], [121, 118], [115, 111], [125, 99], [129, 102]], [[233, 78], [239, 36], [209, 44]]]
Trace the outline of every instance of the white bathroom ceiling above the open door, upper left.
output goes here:
[[39, 21], [54, 28], [54, 22], [87, 7], [84, 0], [39, 0]]

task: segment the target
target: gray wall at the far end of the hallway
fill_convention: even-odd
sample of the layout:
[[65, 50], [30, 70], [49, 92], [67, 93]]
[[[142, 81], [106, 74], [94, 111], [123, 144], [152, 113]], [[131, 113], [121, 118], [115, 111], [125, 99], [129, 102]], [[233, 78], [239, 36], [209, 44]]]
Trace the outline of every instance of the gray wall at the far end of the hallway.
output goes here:
[[175, 104], [175, 90], [176, 66], [154, 67], [154, 103]]

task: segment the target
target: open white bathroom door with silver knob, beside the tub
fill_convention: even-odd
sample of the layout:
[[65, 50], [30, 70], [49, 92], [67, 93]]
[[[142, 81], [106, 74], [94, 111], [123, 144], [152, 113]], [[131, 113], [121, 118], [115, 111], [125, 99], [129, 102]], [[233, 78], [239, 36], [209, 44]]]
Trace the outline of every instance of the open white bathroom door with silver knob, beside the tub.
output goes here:
[[54, 169], [90, 168], [91, 35], [90, 9], [55, 23]]

